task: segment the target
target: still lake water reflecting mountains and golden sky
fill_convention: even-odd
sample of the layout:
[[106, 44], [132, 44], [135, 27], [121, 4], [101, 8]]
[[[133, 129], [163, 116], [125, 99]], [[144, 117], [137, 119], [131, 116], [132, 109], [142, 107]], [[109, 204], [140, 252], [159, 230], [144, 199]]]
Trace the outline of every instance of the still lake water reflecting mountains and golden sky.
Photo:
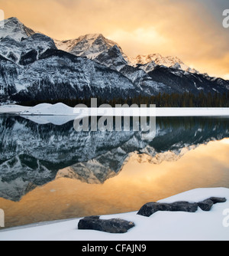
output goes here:
[[229, 188], [228, 117], [156, 117], [156, 136], [76, 132], [69, 117], [0, 116], [5, 227], [137, 211], [190, 189]]

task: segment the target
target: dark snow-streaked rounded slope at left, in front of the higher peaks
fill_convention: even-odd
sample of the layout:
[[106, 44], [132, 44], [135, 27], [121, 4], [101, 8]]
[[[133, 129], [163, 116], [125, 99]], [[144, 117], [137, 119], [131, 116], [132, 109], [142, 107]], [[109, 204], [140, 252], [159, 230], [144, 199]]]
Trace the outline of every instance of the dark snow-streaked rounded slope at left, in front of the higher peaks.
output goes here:
[[[24, 62], [36, 58], [35, 52]], [[26, 66], [0, 60], [2, 100], [51, 100], [76, 97], [127, 97], [139, 94], [127, 77], [111, 69], [64, 51], [48, 49]]]

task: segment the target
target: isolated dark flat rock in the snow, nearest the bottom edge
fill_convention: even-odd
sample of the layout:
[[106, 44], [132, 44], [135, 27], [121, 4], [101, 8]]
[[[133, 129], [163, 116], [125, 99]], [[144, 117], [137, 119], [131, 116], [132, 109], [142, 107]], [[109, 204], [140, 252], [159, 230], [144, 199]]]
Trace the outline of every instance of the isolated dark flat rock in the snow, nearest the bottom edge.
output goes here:
[[126, 233], [134, 227], [134, 222], [127, 222], [121, 218], [100, 219], [99, 216], [89, 216], [79, 221], [78, 229], [92, 229], [108, 233]]

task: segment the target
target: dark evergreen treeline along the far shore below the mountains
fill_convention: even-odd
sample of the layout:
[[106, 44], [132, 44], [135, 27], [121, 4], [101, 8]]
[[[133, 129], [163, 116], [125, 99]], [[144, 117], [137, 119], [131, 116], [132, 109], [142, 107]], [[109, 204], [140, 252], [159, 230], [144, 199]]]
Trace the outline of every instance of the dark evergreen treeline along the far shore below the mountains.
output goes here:
[[[229, 91], [224, 94], [204, 94], [200, 92], [198, 95], [192, 93], [184, 94], [157, 94], [153, 96], [137, 96], [137, 97], [115, 97], [112, 100], [106, 100], [101, 97], [96, 97], [98, 106], [106, 103], [115, 107], [116, 104], [125, 104], [129, 106], [132, 104], [137, 104], [140, 107], [140, 104], [155, 104], [156, 107], [229, 107]], [[64, 103], [69, 107], [75, 107], [77, 104], [82, 103], [87, 107], [91, 107], [91, 97], [88, 98], [79, 98], [75, 99], [56, 99], [56, 100], [31, 100], [31, 101], [22, 101], [19, 102], [22, 106], [36, 106], [39, 103]]]

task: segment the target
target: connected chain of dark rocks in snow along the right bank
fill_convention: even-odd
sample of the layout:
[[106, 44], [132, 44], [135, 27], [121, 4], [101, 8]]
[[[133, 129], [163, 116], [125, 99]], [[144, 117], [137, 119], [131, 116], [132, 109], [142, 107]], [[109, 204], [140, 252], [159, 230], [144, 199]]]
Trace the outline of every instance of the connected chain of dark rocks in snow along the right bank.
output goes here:
[[198, 207], [203, 211], [210, 211], [211, 206], [218, 202], [226, 202], [225, 198], [211, 197], [205, 199], [202, 202], [172, 202], [172, 203], [160, 203], [160, 202], [147, 202], [143, 205], [137, 215], [143, 215], [149, 217], [157, 211], [169, 211], [169, 212], [196, 212]]

